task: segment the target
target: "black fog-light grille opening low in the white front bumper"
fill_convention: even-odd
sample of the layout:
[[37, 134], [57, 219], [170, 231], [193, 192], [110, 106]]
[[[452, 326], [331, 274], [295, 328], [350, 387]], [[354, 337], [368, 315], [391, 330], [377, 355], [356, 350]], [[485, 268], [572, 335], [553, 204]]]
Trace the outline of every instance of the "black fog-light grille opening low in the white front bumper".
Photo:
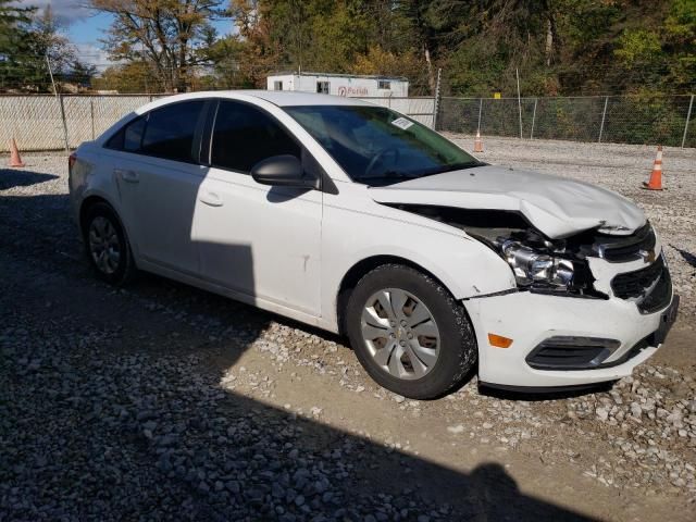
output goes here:
[[616, 339], [555, 336], [534, 348], [526, 362], [537, 370], [587, 370], [601, 364], [619, 346]]

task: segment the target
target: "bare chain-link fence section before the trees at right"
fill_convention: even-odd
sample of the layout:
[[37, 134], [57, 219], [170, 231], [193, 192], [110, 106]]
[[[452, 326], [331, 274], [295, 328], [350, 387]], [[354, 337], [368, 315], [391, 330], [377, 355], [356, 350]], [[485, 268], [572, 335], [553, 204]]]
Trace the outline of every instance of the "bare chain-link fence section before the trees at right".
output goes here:
[[694, 96], [451, 98], [437, 129], [452, 133], [614, 144], [696, 147]]

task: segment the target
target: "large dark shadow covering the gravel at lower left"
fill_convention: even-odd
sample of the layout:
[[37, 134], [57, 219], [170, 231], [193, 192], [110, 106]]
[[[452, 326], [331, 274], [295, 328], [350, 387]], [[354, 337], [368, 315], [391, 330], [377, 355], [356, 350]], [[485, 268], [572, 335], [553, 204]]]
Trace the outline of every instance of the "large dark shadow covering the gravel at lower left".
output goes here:
[[591, 520], [498, 463], [459, 472], [225, 389], [278, 318], [154, 276], [114, 291], [79, 251], [66, 195], [0, 197], [3, 520]]

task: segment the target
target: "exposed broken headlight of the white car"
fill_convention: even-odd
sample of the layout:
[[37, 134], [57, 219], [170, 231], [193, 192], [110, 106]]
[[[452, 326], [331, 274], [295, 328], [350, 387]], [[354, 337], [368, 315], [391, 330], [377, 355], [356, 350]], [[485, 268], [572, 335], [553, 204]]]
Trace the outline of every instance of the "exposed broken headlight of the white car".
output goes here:
[[539, 252], [512, 239], [502, 241], [500, 250], [520, 286], [569, 288], [573, 283], [574, 266], [568, 259]]

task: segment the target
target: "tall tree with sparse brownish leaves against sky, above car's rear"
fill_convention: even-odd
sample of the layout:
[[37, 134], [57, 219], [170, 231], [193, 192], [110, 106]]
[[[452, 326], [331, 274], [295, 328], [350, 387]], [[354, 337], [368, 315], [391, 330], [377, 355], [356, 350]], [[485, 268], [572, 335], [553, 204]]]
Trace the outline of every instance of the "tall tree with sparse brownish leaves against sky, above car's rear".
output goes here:
[[114, 21], [103, 44], [115, 61], [149, 62], [166, 91], [185, 91], [195, 67], [206, 63], [200, 46], [223, 0], [90, 0]]

